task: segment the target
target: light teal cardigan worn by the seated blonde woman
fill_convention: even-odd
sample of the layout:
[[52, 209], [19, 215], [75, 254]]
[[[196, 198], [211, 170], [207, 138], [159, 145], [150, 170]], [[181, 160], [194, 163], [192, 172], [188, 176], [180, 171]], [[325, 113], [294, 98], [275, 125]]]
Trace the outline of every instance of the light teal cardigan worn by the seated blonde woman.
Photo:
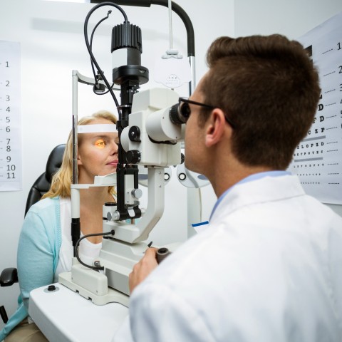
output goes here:
[[17, 254], [19, 306], [0, 331], [0, 341], [28, 316], [30, 292], [53, 284], [61, 242], [59, 197], [42, 199], [29, 209], [21, 229]]

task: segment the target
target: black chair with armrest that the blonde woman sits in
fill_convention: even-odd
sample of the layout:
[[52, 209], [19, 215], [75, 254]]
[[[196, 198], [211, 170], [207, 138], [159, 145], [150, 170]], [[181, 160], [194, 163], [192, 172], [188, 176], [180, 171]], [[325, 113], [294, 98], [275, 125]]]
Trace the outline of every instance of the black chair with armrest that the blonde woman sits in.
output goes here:
[[[28, 192], [24, 216], [26, 216], [26, 213], [28, 212], [28, 209], [30, 209], [31, 205], [38, 202], [38, 200], [41, 199], [41, 197], [50, 189], [52, 176], [62, 165], [63, 153], [65, 148], [66, 144], [61, 144], [57, 145], [51, 151], [50, 155], [48, 156], [48, 161], [46, 162], [45, 172], [43, 172], [36, 179], [36, 182], [33, 183], [30, 191]], [[16, 282], [18, 282], [18, 274], [16, 268], [9, 267], [1, 272], [0, 286], [11, 286]], [[6, 324], [6, 322], [8, 321], [8, 317], [4, 306], [0, 306], [0, 316]]]

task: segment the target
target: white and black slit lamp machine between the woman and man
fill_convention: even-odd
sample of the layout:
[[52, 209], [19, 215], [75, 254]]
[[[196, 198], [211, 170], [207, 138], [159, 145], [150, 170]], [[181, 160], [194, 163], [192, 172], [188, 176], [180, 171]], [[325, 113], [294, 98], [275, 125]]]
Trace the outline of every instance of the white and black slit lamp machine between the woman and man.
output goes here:
[[[142, 36], [138, 26], [130, 24], [119, 6], [169, 6], [168, 1], [115, 1], [98, 3], [90, 10], [84, 24], [86, 45], [92, 61], [94, 78], [73, 71], [73, 184], [71, 185], [71, 236], [74, 247], [73, 266], [70, 272], [59, 275], [59, 283], [94, 304], [118, 302], [128, 306], [128, 275], [149, 247], [145, 240], [162, 217], [165, 198], [165, 168], [180, 165], [184, 160], [181, 142], [184, 140], [185, 118], [179, 110], [179, 96], [170, 88], [154, 88], [138, 92], [140, 85], [147, 83], [149, 72], [141, 66]], [[108, 83], [92, 52], [92, 39], [88, 41], [88, 20], [93, 11], [101, 6], [114, 6], [124, 16], [123, 24], [113, 27], [111, 52], [113, 65], [116, 53], [125, 55], [126, 64], [113, 68], [113, 84]], [[170, 10], [170, 6], [169, 6]], [[195, 39], [191, 21], [184, 10], [172, 2], [172, 10], [180, 15], [187, 28], [190, 94], [195, 79]], [[109, 15], [110, 12], [108, 12]], [[107, 16], [108, 18], [108, 16]], [[103, 20], [107, 19], [104, 18]], [[100, 21], [101, 22], [101, 21]], [[100, 24], [100, 22], [98, 24]], [[175, 58], [177, 51], [167, 51], [167, 58]], [[172, 56], [173, 55], [173, 56]], [[177, 57], [176, 57], [177, 58]], [[95, 69], [97, 73], [95, 73]], [[175, 78], [172, 78], [175, 80]], [[169, 80], [170, 81], [170, 80]], [[78, 82], [93, 86], [95, 93], [109, 92], [118, 108], [117, 130], [119, 135], [118, 167], [115, 174], [95, 177], [93, 184], [78, 184], [77, 137], [85, 126], [77, 126]], [[113, 86], [120, 86], [119, 104]], [[92, 126], [92, 125], [89, 125]], [[94, 126], [94, 132], [97, 128]], [[112, 126], [112, 125], [108, 125]], [[86, 128], [86, 132], [91, 128]], [[106, 129], [106, 128], [103, 128]], [[142, 195], [138, 187], [139, 174], [147, 174], [147, 208], [139, 207]], [[187, 171], [188, 172], [188, 171]], [[204, 180], [204, 185], [207, 182]], [[80, 190], [88, 187], [115, 185], [117, 203], [103, 205], [103, 242], [100, 255], [93, 265], [84, 264], [77, 253], [81, 234]], [[132, 223], [135, 221], [135, 223]], [[170, 249], [172, 249], [170, 247]]]

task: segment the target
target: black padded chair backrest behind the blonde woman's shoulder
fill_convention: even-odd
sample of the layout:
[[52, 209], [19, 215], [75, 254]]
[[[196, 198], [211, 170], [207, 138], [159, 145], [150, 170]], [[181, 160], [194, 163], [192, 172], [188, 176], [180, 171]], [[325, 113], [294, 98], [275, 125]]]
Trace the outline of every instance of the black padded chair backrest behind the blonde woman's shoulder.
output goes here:
[[36, 182], [33, 183], [30, 192], [28, 192], [25, 215], [31, 205], [38, 202], [38, 200], [41, 199], [41, 197], [50, 189], [52, 176], [62, 165], [65, 148], [66, 144], [57, 145], [48, 156], [45, 172], [36, 179]]

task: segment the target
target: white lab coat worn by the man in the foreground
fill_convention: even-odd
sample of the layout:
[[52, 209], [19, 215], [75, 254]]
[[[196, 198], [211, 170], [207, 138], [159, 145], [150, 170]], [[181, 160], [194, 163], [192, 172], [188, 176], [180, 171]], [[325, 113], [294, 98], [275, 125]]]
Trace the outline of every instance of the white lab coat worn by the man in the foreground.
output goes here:
[[337, 342], [341, 315], [342, 218], [296, 176], [264, 177], [133, 291], [113, 341]]

